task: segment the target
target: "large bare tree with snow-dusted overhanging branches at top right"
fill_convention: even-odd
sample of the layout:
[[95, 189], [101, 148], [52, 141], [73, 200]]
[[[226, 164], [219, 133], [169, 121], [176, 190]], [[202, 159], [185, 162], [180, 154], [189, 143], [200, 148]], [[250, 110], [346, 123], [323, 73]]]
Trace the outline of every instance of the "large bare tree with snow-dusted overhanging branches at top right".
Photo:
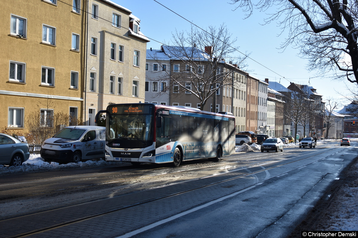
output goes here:
[[293, 44], [310, 61], [310, 69], [322, 73], [338, 70], [336, 77], [358, 84], [357, 0], [231, 0], [243, 8], [246, 18], [254, 8], [269, 13], [265, 23], [281, 26], [288, 37], [282, 49]]

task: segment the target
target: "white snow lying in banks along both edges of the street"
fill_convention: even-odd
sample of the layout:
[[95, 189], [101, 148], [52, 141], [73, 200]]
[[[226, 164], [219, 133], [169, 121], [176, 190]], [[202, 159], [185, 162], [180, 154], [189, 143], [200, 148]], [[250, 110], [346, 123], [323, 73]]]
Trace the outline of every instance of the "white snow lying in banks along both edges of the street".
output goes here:
[[[338, 142], [339, 140], [317, 141], [317, 146], [325, 144], [329, 141]], [[298, 143], [284, 144], [284, 147], [299, 147]], [[235, 152], [258, 152], [260, 145], [253, 143], [252, 145], [243, 144], [235, 147]], [[23, 166], [3, 166], [0, 165], [0, 175], [14, 174], [21, 172], [44, 172], [54, 171], [66, 168], [79, 167], [102, 167], [110, 165], [118, 165], [120, 162], [85, 161], [79, 163], [60, 164], [56, 162], [45, 162], [40, 155], [30, 155], [28, 161]], [[354, 164], [349, 173], [354, 177], [352, 182], [344, 184], [335, 194], [334, 201], [330, 205], [329, 211], [325, 214], [324, 221], [320, 222], [321, 229], [325, 231], [357, 231], [358, 230], [358, 163]]]

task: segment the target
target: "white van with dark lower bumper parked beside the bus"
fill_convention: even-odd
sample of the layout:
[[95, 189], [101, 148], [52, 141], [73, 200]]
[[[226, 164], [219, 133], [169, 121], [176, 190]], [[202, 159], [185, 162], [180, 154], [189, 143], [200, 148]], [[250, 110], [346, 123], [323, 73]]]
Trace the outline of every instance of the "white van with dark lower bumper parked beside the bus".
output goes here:
[[70, 161], [105, 158], [106, 127], [68, 126], [45, 140], [41, 157], [45, 161]]

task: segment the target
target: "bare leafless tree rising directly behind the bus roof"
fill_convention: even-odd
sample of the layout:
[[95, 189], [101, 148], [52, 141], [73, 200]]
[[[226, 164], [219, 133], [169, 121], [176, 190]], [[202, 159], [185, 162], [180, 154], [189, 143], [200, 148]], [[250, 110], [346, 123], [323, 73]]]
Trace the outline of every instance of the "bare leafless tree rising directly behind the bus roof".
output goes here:
[[[236, 86], [240, 79], [233, 72], [242, 72], [246, 67], [247, 56], [235, 57], [237, 47], [236, 39], [232, 39], [226, 27], [209, 26], [208, 30], [192, 28], [189, 32], [173, 33], [170, 45], [163, 45], [162, 50], [170, 57], [172, 69], [165, 76], [150, 79], [152, 81], [170, 80], [167, 88], [182, 95], [191, 93], [198, 98], [200, 107], [224, 86]], [[153, 59], [160, 62], [160, 59]], [[243, 87], [243, 84], [240, 84]], [[167, 93], [163, 90], [160, 93]]]

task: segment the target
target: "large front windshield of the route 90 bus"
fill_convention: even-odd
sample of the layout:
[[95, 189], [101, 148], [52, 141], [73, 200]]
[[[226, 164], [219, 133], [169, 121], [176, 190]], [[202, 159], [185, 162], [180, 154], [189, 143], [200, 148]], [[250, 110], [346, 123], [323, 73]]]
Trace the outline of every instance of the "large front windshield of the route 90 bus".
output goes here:
[[111, 114], [106, 140], [108, 143], [114, 143], [114, 147], [116, 144], [120, 144], [120, 147], [131, 144], [135, 148], [144, 148], [148, 143], [153, 143], [152, 125], [150, 114]]

